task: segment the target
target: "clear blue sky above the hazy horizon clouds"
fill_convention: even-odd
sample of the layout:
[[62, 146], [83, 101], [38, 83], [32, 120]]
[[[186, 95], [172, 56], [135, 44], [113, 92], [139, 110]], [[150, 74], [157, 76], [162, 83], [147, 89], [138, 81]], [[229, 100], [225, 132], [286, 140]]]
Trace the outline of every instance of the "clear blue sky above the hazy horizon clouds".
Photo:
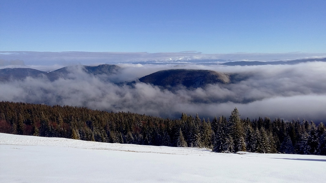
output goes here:
[[0, 51], [326, 53], [325, 9], [325, 0], [0, 0]]

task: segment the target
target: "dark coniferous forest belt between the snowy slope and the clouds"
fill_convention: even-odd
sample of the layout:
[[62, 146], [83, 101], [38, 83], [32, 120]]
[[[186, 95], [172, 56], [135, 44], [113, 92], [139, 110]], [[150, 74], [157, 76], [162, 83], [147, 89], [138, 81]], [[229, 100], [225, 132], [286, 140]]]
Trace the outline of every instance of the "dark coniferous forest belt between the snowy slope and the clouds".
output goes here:
[[306, 120], [268, 117], [200, 119], [181, 114], [163, 119], [130, 112], [84, 107], [0, 102], [0, 132], [41, 137], [172, 147], [200, 147], [215, 152], [297, 153], [326, 155], [326, 130]]

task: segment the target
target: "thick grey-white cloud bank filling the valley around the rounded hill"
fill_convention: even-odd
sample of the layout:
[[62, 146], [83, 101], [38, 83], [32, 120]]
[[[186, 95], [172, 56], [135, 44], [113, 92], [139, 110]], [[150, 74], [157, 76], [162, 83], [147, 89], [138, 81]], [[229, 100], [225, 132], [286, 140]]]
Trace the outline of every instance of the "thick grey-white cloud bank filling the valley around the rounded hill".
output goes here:
[[[161, 117], [180, 117], [182, 112], [200, 117], [230, 116], [237, 107], [242, 118], [326, 120], [326, 63], [297, 65], [141, 65], [120, 64], [122, 71], [109, 78], [91, 76], [77, 67], [67, 78], [50, 82], [47, 78], [26, 78], [0, 84], [0, 100], [85, 106], [106, 111], [130, 111]], [[239, 73], [245, 80], [228, 85], [174, 92], [133, 81], [144, 75], [174, 68], [209, 69]], [[108, 80], [112, 82], [107, 82]]]

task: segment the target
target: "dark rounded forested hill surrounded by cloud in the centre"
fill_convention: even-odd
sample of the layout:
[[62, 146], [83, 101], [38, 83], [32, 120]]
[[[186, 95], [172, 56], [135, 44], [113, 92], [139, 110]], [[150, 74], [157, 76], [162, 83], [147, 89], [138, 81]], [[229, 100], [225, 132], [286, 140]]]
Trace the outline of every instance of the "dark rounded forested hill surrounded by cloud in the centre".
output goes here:
[[230, 83], [230, 74], [210, 70], [170, 69], [158, 71], [141, 77], [139, 81], [164, 88], [183, 85], [187, 88], [199, 88], [207, 84]]

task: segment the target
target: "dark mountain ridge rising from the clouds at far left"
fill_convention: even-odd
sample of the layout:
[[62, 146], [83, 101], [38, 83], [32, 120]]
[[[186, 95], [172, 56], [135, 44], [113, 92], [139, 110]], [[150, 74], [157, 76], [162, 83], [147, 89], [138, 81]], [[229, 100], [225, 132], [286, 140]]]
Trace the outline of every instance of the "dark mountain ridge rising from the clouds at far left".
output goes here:
[[111, 75], [117, 73], [120, 67], [117, 65], [109, 64], [102, 64], [98, 66], [68, 66], [52, 72], [43, 72], [30, 68], [6, 68], [0, 69], [0, 81], [23, 80], [26, 77], [47, 77], [50, 81], [54, 81], [60, 77], [67, 78], [69, 77], [69, 73], [74, 72], [78, 69], [93, 75]]

